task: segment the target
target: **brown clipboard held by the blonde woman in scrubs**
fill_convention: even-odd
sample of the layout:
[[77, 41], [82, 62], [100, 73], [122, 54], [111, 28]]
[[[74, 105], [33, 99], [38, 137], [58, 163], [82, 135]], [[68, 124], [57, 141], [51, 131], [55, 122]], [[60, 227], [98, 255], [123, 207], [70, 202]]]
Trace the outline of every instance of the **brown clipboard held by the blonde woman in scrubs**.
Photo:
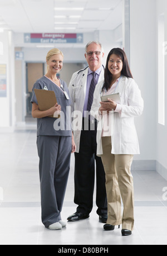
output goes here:
[[[36, 94], [38, 107], [41, 111], [48, 110], [49, 108], [55, 106], [55, 104], [57, 103], [57, 99], [54, 91], [34, 89], [34, 92]], [[58, 115], [58, 117], [55, 117], [53, 115], [49, 117], [59, 118], [60, 115]]]

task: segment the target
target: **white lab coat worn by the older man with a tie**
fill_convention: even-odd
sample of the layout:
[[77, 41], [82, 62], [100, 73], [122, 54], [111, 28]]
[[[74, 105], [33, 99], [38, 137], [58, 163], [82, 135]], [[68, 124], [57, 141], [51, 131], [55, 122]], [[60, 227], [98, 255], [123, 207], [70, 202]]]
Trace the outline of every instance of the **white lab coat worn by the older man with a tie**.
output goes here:
[[[81, 129], [82, 129], [82, 113], [84, 110], [87, 74], [88, 74], [88, 67], [73, 73], [71, 80], [70, 80], [70, 84], [68, 86], [68, 90], [69, 90], [70, 98], [71, 98], [71, 113], [74, 117], [77, 116], [77, 120], [79, 123], [78, 129], [73, 129], [73, 138], [74, 138], [75, 144], [76, 144], [76, 153], [78, 153], [79, 149], [80, 149], [80, 136], [81, 136]], [[104, 67], [101, 70], [98, 82], [100, 82], [103, 79], [104, 79]], [[75, 112], [73, 112], [73, 111], [75, 111]], [[72, 119], [72, 121], [73, 121], [73, 119]], [[72, 124], [74, 124], [74, 122], [72, 122]]]

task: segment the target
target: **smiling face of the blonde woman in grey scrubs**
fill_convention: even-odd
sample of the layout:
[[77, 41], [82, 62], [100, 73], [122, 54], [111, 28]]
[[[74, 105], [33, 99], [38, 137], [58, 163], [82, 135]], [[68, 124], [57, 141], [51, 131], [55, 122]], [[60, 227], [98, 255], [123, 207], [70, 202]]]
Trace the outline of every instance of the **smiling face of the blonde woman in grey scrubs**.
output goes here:
[[48, 65], [48, 72], [51, 74], [57, 74], [62, 69], [63, 56], [61, 54], [52, 55], [46, 62]]

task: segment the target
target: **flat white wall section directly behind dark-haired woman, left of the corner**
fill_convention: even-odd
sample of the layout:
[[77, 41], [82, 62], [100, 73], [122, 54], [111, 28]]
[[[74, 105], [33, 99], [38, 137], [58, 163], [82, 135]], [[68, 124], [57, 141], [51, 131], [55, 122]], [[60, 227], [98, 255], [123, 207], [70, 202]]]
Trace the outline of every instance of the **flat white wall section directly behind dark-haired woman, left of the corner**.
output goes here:
[[137, 160], [156, 159], [156, 0], [130, 0], [130, 67], [144, 99], [135, 119], [140, 143]]

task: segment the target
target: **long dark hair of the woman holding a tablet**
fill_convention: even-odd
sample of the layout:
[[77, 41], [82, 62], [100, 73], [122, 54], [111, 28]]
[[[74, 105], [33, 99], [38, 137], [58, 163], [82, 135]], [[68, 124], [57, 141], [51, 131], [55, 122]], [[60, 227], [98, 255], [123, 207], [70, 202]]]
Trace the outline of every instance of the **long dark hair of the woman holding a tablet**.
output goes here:
[[111, 80], [112, 80], [112, 74], [108, 69], [108, 63], [109, 63], [111, 54], [115, 54], [119, 56], [119, 58], [122, 60], [123, 67], [121, 70], [121, 75], [124, 75], [125, 77], [133, 78], [129, 68], [129, 63], [128, 63], [125, 51], [122, 50], [121, 48], [113, 48], [107, 56], [105, 75], [104, 75], [105, 79], [104, 79], [104, 86], [102, 87], [102, 91], [104, 91], [104, 89], [108, 91], [108, 89], [110, 88]]

